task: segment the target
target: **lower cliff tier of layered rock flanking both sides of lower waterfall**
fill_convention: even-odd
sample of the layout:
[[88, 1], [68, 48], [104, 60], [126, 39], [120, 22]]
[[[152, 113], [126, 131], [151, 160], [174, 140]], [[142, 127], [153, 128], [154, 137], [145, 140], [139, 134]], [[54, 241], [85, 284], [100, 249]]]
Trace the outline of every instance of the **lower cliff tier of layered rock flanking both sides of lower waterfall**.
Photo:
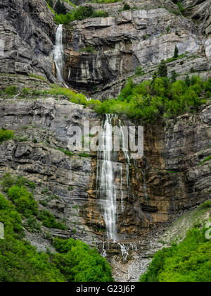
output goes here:
[[[50, 211], [67, 220], [69, 234], [61, 232], [60, 237], [70, 235], [89, 244], [92, 236], [95, 242], [106, 238], [96, 200], [96, 153], [80, 155], [77, 144], [72, 155], [64, 153], [70, 149], [72, 125], [82, 130], [85, 121], [90, 128], [101, 126], [101, 118], [84, 106], [53, 97], [0, 103], [0, 127], [15, 130], [15, 140], [0, 145], [1, 175], [10, 171], [32, 180], [37, 200], [43, 199], [45, 188], [60, 198], [48, 204]], [[146, 126], [144, 156], [129, 168], [129, 187], [124, 156], [120, 153], [115, 159], [120, 240], [146, 235], [210, 198], [210, 161], [199, 166], [211, 154], [210, 114], [207, 105], [176, 122], [158, 123], [156, 130]], [[53, 230], [53, 235], [58, 233]]]

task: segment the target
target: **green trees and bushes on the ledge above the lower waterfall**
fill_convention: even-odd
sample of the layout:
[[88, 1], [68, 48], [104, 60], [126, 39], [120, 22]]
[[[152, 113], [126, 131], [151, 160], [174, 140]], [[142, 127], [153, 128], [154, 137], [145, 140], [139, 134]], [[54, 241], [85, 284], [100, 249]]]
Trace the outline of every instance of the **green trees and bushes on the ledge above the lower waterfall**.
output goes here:
[[206, 103], [210, 92], [211, 79], [203, 82], [198, 76], [191, 78], [190, 85], [183, 80], [171, 83], [166, 77], [134, 85], [131, 79], [117, 99], [108, 99], [94, 108], [98, 113], [118, 113], [153, 123], [159, 118], [175, 118], [185, 112], [197, 111]]

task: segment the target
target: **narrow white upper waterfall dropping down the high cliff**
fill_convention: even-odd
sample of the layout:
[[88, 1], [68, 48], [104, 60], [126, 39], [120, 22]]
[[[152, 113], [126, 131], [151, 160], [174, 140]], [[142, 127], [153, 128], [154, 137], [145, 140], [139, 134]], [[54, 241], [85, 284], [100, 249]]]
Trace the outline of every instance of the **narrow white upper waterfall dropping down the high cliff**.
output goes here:
[[[53, 61], [55, 62], [56, 66], [56, 78], [58, 81], [62, 82], [65, 85], [63, 69], [65, 66], [64, 63], [64, 48], [63, 48], [63, 25], [58, 25], [56, 30], [56, 42], [53, 46]], [[65, 87], [68, 87], [65, 85]]]

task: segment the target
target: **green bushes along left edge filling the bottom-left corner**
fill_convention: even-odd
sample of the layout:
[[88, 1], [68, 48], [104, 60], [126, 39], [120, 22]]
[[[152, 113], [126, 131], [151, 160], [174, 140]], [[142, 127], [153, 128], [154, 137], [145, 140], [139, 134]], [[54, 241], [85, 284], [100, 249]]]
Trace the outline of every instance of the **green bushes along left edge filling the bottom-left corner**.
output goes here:
[[21, 216], [15, 206], [0, 195], [0, 221], [4, 223], [4, 240], [0, 240], [0, 282], [65, 281], [49, 255], [37, 252], [22, 240]]

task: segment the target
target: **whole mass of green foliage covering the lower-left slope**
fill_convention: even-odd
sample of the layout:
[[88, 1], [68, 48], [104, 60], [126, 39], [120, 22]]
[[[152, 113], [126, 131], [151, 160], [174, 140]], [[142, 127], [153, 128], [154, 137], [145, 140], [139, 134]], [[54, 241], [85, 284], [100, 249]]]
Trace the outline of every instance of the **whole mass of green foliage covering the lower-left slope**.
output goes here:
[[[4, 240], [0, 240], [0, 282], [113, 280], [106, 259], [101, 257], [96, 249], [91, 249], [79, 240], [55, 239], [53, 245], [58, 253], [37, 252], [35, 247], [23, 240], [22, 223], [25, 213], [28, 215], [28, 210], [34, 211], [34, 204], [31, 206], [32, 195], [23, 186], [29, 185], [33, 188], [33, 183], [27, 183], [24, 178], [11, 178], [6, 175], [1, 185], [13, 203], [0, 195], [0, 222], [4, 223]], [[20, 193], [23, 193], [25, 199], [16, 204], [16, 198], [22, 197]], [[35, 209], [37, 210], [37, 204]], [[44, 213], [41, 214], [44, 216]], [[30, 224], [34, 224], [35, 218], [30, 216], [28, 220]]]

